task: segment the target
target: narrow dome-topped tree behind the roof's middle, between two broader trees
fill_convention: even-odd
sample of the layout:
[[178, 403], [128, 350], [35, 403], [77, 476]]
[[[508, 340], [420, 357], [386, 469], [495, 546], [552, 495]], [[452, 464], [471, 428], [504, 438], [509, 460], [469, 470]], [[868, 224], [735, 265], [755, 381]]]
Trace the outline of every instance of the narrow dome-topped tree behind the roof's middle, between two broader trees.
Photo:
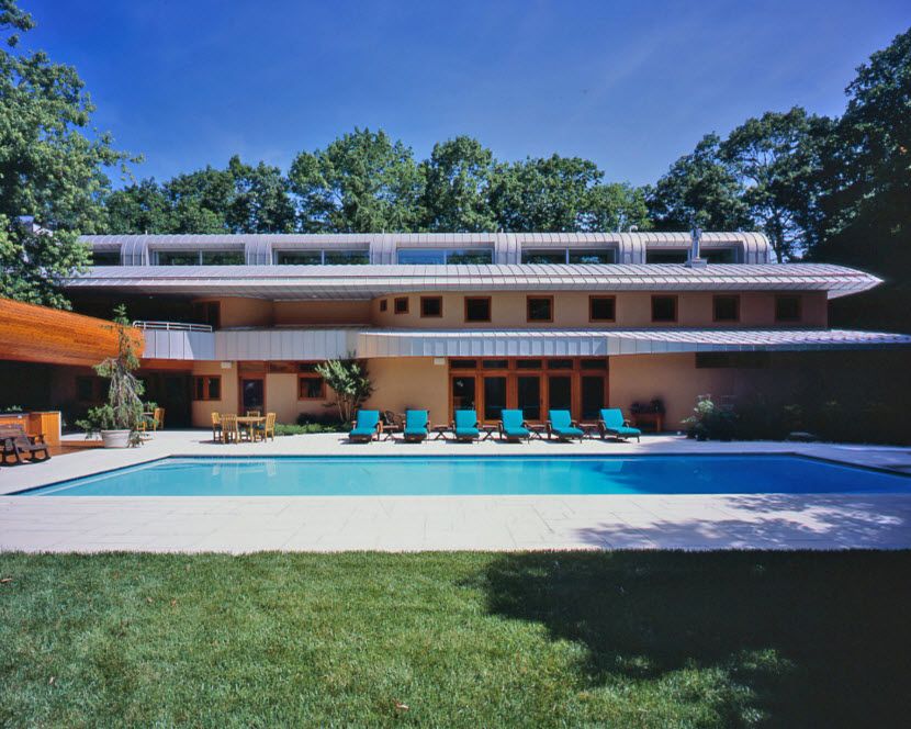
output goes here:
[[421, 162], [425, 187], [421, 208], [428, 231], [495, 231], [490, 191], [494, 156], [476, 139], [458, 136], [434, 145]]

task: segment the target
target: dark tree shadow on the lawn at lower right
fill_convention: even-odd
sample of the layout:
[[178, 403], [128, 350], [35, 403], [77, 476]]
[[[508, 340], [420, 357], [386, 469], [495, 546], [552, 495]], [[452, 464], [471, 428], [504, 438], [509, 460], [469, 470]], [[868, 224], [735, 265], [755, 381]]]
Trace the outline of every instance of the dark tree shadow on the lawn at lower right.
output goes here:
[[699, 692], [704, 672], [768, 726], [911, 717], [911, 552], [516, 553], [482, 587], [492, 614], [584, 644], [593, 686]]

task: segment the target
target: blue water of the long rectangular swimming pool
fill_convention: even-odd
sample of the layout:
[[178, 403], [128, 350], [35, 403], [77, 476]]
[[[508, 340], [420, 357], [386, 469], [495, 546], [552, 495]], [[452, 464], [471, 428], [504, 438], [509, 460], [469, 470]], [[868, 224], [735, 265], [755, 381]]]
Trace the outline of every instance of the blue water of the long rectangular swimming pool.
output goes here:
[[168, 458], [38, 496], [911, 492], [911, 479], [795, 456]]

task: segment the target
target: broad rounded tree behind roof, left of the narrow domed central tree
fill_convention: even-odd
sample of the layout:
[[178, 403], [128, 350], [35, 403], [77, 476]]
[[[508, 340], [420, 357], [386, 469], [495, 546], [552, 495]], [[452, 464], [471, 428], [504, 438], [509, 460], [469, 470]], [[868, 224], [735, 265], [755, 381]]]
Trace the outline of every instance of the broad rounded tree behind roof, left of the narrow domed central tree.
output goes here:
[[355, 128], [291, 165], [300, 227], [314, 233], [414, 231], [421, 180], [410, 147], [385, 132]]

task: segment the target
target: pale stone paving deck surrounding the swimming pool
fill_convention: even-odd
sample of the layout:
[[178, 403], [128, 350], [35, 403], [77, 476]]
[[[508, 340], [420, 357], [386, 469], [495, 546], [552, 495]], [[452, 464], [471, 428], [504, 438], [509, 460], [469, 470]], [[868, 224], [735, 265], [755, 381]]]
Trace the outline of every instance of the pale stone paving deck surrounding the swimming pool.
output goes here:
[[142, 448], [89, 449], [0, 469], [0, 550], [515, 550], [911, 548], [911, 479], [901, 494], [605, 496], [54, 496], [11, 492], [167, 456], [798, 453], [911, 473], [911, 449], [831, 444], [400, 441], [336, 434], [222, 446], [202, 430]]

